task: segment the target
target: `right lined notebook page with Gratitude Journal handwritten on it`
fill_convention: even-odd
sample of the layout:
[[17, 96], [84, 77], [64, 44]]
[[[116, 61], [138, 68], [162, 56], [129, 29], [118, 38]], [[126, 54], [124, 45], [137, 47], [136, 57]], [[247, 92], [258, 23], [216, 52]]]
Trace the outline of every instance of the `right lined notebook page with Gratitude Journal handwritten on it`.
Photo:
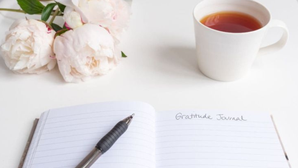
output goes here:
[[156, 167], [288, 168], [288, 163], [269, 114], [170, 111], [156, 113]]

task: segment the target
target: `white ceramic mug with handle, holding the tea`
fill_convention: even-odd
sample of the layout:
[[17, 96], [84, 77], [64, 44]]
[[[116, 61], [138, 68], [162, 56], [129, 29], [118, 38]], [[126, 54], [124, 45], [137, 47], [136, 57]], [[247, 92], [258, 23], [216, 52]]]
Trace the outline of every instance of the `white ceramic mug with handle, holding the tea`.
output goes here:
[[[200, 20], [220, 11], [249, 14], [260, 21], [262, 28], [246, 33], [228, 33], [211, 29]], [[193, 10], [198, 65], [203, 74], [215, 80], [235, 81], [247, 74], [257, 55], [269, 54], [283, 48], [288, 40], [284, 22], [272, 20], [269, 10], [252, 0], [204, 0]], [[281, 39], [260, 48], [269, 28], [283, 29]]]

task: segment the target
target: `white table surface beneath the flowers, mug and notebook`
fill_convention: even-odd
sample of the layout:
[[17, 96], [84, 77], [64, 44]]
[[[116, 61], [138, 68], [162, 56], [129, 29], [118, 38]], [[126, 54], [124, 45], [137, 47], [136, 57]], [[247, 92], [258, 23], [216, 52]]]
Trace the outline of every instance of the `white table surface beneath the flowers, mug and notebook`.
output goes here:
[[[199, 0], [134, 0], [121, 44], [128, 58], [85, 83], [65, 83], [57, 67], [41, 75], [14, 74], [0, 59], [0, 167], [17, 167], [32, 122], [44, 110], [114, 100], [145, 101], [157, 110], [270, 112], [292, 167], [298, 167], [298, 3], [258, 1], [288, 25], [290, 38], [281, 51], [257, 57], [251, 73], [236, 82], [211, 80], [198, 70], [192, 10]], [[12, 3], [4, 0], [0, 7], [16, 7]], [[9, 18], [0, 15], [0, 39], [15, 18], [24, 18], [3, 14]], [[280, 33], [271, 30], [265, 44]]]

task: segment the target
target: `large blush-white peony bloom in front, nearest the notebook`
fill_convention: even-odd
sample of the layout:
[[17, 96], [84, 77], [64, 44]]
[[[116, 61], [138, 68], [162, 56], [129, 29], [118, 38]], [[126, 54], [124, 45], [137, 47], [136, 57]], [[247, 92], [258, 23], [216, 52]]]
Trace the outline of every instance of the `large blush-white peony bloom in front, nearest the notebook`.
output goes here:
[[60, 73], [67, 82], [80, 82], [107, 74], [117, 65], [112, 36], [99, 25], [84, 24], [57, 36], [54, 52]]

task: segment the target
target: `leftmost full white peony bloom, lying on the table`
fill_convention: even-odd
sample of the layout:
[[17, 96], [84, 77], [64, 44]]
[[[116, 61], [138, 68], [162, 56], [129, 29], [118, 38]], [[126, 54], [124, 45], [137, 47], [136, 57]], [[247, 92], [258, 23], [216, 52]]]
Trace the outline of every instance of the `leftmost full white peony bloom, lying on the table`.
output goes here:
[[6, 66], [19, 73], [51, 70], [56, 65], [52, 45], [55, 31], [34, 19], [17, 20], [6, 33], [1, 56]]

